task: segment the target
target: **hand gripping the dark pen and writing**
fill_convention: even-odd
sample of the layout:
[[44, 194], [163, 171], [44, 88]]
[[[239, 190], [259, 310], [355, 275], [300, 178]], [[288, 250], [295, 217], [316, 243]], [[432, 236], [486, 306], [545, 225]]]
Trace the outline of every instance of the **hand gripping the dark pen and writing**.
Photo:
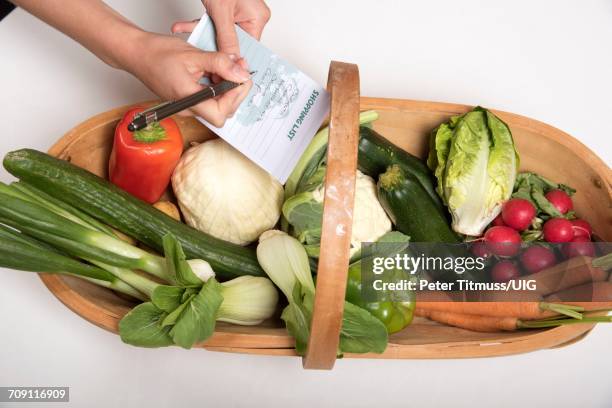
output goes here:
[[221, 127], [249, 93], [252, 82], [246, 63], [236, 55], [204, 52], [179, 38], [151, 33], [143, 33], [137, 43], [140, 51], [127, 57], [122, 68], [163, 99], [174, 100], [199, 91], [202, 85], [198, 81], [203, 76], [216, 75], [243, 83], [182, 114], [195, 114]]

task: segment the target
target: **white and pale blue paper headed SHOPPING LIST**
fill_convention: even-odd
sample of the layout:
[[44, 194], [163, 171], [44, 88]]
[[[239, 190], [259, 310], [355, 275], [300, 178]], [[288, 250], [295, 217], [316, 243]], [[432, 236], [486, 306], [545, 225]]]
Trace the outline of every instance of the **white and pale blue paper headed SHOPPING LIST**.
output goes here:
[[[329, 112], [325, 89], [236, 26], [240, 55], [253, 86], [234, 116], [217, 128], [198, 118], [245, 156], [285, 183]], [[215, 29], [204, 15], [187, 40], [216, 51]]]

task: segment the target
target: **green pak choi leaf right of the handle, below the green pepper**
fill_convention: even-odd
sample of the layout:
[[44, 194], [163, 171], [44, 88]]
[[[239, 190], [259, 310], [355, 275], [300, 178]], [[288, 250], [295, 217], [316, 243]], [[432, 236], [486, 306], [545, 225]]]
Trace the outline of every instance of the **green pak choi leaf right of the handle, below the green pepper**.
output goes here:
[[344, 316], [340, 330], [342, 353], [382, 353], [389, 336], [385, 325], [370, 312], [344, 302]]

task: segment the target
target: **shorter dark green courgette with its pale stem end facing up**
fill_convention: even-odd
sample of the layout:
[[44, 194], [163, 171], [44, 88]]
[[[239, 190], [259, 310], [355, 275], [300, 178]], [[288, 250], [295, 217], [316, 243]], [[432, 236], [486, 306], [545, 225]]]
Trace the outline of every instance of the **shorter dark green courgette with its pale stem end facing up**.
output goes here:
[[446, 218], [429, 199], [417, 177], [393, 164], [380, 175], [378, 200], [395, 225], [412, 242], [460, 242]]

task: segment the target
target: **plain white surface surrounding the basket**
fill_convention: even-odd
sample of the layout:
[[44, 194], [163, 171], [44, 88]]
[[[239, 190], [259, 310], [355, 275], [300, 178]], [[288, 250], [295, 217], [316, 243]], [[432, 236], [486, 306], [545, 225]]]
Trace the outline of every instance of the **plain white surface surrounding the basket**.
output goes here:
[[[158, 32], [202, 12], [195, 0], [109, 3]], [[322, 83], [331, 59], [358, 63], [363, 95], [527, 115], [612, 161], [610, 1], [269, 6], [264, 43]], [[23, 11], [0, 22], [0, 154], [45, 150], [89, 116], [150, 97]], [[0, 179], [10, 177], [1, 170]], [[346, 360], [313, 372], [296, 358], [128, 347], [66, 309], [35, 275], [0, 274], [0, 385], [70, 386], [70, 406], [612, 406], [612, 327], [527, 355]]]

